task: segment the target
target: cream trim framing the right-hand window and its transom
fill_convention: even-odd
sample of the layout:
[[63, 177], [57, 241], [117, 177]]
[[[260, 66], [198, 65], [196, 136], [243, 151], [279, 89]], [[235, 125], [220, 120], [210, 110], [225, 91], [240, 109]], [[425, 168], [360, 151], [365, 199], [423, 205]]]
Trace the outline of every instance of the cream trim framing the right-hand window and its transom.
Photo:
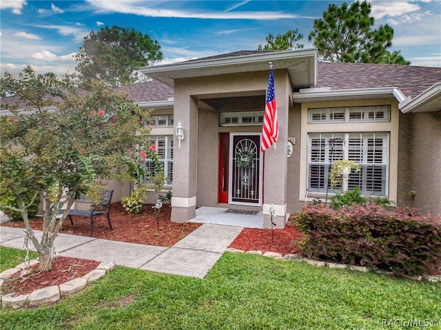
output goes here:
[[[308, 123], [308, 109], [329, 107], [357, 107], [369, 105], [391, 105], [389, 122], [329, 122], [322, 124]], [[358, 132], [388, 132], [389, 133], [389, 184], [387, 198], [397, 200], [398, 190], [398, 103], [395, 99], [378, 100], [351, 100], [331, 102], [309, 102], [301, 104], [301, 133], [300, 133], [300, 178], [299, 200], [313, 201], [314, 198], [322, 197], [321, 194], [307, 194], [307, 146], [308, 133], [358, 133]]]

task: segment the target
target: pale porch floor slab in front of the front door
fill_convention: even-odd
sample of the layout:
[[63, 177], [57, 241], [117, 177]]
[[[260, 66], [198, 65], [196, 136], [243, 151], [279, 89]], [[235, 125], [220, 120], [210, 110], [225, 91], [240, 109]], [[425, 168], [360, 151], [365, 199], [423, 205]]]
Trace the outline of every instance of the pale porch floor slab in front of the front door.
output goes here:
[[225, 213], [228, 208], [203, 206], [196, 209], [196, 217], [188, 222], [233, 225], [244, 228], [263, 228], [263, 212], [256, 215]]

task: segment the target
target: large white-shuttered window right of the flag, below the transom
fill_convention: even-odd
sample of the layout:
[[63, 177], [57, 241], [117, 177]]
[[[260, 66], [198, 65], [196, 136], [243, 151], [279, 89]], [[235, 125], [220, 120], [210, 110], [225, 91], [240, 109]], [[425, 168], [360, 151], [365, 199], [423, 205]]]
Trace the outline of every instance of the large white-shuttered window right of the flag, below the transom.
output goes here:
[[[387, 196], [389, 133], [309, 133], [308, 192], [338, 192], [360, 188], [362, 195]], [[338, 159], [353, 160], [360, 172], [351, 172], [343, 187], [332, 187], [329, 166]]]

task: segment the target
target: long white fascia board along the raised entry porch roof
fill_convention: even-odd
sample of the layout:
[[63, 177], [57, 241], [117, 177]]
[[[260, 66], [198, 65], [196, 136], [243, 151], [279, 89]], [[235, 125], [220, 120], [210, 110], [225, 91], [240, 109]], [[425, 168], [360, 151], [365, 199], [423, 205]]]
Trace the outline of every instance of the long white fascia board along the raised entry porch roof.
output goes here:
[[314, 56], [314, 58], [316, 58], [316, 48], [310, 48], [307, 50], [286, 50], [282, 52], [268, 52], [265, 54], [232, 56], [226, 58], [202, 59], [165, 65], [153, 65], [150, 67], [140, 67], [139, 70], [148, 76], [148, 74], [183, 71], [186, 69], [206, 69], [209, 67], [221, 67], [223, 65], [240, 65], [245, 63], [258, 63], [265, 61], [280, 61], [289, 58], [300, 58], [306, 56]]

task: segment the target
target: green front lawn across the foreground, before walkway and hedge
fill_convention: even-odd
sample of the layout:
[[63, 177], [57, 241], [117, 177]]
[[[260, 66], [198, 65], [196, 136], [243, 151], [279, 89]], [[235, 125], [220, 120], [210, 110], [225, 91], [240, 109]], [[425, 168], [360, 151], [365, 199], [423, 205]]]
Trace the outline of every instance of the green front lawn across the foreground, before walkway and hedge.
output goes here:
[[440, 319], [440, 283], [234, 253], [203, 280], [116, 267], [55, 305], [0, 311], [2, 329], [402, 329], [382, 322]]

